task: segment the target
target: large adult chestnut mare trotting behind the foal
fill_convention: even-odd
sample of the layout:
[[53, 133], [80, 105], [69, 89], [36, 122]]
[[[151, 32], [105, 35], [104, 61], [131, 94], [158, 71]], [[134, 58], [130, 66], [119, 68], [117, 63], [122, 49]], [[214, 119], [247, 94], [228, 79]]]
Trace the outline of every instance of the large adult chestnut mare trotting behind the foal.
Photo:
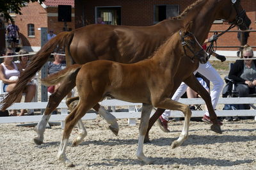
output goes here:
[[[23, 91], [26, 83], [31, 77], [40, 70], [47, 62], [51, 52], [57, 47], [65, 46], [67, 55], [67, 65], [72, 63], [84, 64], [97, 59], [108, 59], [120, 63], [135, 63], [141, 59], [148, 58], [154, 50], [159, 47], [168, 36], [180, 29], [180, 27], [193, 21], [191, 32], [194, 33], [198, 42], [202, 44], [207, 38], [209, 30], [214, 20], [224, 19], [239, 26], [241, 30], [248, 29], [250, 19], [240, 4], [240, 1], [231, 0], [198, 0], [191, 4], [180, 14], [179, 17], [167, 19], [154, 26], [132, 27], [132, 26], [108, 26], [108, 25], [90, 25], [81, 27], [71, 32], [63, 32], [47, 42], [39, 50], [33, 60], [26, 68], [25, 72], [19, 78], [17, 86], [2, 101], [2, 109], [8, 108], [13, 104], [20, 91]], [[195, 90], [207, 104], [210, 118], [214, 125], [218, 127], [218, 121], [211, 101], [208, 101], [209, 94], [202, 94], [200, 89], [195, 86], [194, 75], [191, 74], [184, 80], [189, 87]], [[178, 80], [179, 81], [179, 80]], [[36, 144], [42, 144], [44, 141], [44, 131], [51, 117], [51, 112], [60, 104], [61, 100], [72, 88], [76, 86], [74, 75], [70, 75], [62, 82], [56, 93], [49, 98], [47, 108], [45, 109], [42, 120], [36, 126], [38, 137], [34, 139]], [[178, 88], [175, 87], [175, 89]], [[171, 94], [171, 96], [173, 93]], [[163, 109], [157, 110], [150, 118], [150, 126], [156, 121]], [[160, 112], [159, 112], [160, 111]], [[115, 134], [118, 133], [118, 125], [115, 117], [106, 114], [106, 111], [98, 111], [111, 125], [110, 128]], [[158, 117], [157, 117], [158, 116]], [[80, 125], [79, 125], [80, 126]], [[82, 124], [83, 126], [83, 124]], [[215, 132], [221, 132], [216, 128]]]

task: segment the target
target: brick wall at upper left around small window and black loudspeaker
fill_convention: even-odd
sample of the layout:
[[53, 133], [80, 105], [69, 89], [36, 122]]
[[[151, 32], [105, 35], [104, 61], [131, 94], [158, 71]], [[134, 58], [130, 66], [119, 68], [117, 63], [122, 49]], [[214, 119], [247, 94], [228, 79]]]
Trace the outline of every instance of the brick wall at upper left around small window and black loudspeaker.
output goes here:
[[[22, 15], [14, 17], [15, 24], [19, 26], [22, 45], [32, 47], [32, 50], [38, 50], [41, 46], [40, 27], [47, 27], [48, 30], [54, 30], [54, 34], [58, 35], [63, 31], [64, 22], [58, 22], [58, 7], [43, 8], [38, 2], [29, 3], [28, 6], [21, 9]], [[52, 17], [48, 16], [51, 13]], [[72, 8], [74, 15], [74, 8]], [[75, 18], [72, 17], [72, 22], [67, 22], [67, 27], [75, 29]], [[28, 36], [28, 24], [35, 24], [35, 37]]]

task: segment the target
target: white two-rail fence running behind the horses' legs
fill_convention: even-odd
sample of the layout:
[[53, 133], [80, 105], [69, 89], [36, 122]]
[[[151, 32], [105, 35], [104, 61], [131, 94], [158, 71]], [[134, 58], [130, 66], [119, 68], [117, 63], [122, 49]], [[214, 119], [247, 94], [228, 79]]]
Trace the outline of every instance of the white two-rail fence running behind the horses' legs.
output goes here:
[[[205, 104], [202, 98], [180, 98], [179, 102], [183, 104]], [[220, 98], [218, 104], [255, 104], [256, 98]], [[129, 125], [135, 125], [136, 119], [140, 118], [141, 112], [137, 111], [136, 107], [141, 106], [140, 103], [124, 102], [121, 100], [103, 100], [101, 105], [104, 106], [127, 106], [127, 112], [111, 112], [117, 119], [128, 119]], [[15, 103], [8, 109], [45, 109], [47, 102], [31, 102], [31, 103]], [[68, 108], [65, 102], [58, 105], [61, 109], [61, 114], [52, 115], [49, 121], [64, 121], [68, 113]], [[192, 117], [202, 117], [205, 111], [192, 111]], [[152, 112], [152, 114], [154, 111]], [[218, 116], [256, 116], [256, 110], [220, 110], [216, 111]], [[95, 113], [87, 113], [82, 118], [83, 120], [93, 120], [97, 117]], [[172, 111], [172, 117], [184, 117], [180, 111]], [[42, 118], [37, 116], [10, 116], [0, 117], [0, 123], [28, 123], [38, 122]], [[256, 117], [255, 117], [256, 118]], [[63, 126], [63, 125], [62, 125]]]

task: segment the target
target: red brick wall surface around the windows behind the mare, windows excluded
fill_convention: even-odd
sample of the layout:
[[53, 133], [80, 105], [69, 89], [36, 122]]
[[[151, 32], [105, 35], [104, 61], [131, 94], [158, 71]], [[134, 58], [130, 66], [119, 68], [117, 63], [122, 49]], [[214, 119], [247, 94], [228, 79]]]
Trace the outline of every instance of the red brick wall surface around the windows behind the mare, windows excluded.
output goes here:
[[[86, 24], [95, 23], [95, 6], [122, 6], [122, 25], [127, 26], [151, 26], [154, 24], [154, 4], [179, 4], [179, 10], [182, 12], [189, 4], [193, 3], [193, 0], [99, 0], [99, 1], [82, 1], [75, 0], [76, 7], [76, 27], [81, 27]], [[241, 1], [241, 4], [246, 10], [246, 14], [252, 20], [250, 27], [256, 29], [255, 15], [256, 15], [256, 0], [244, 0]], [[83, 24], [82, 16], [85, 16], [85, 22]], [[225, 30], [229, 25], [226, 24], [213, 24], [211, 30]], [[237, 30], [233, 28], [232, 30]], [[213, 33], [209, 33], [211, 36]], [[248, 44], [256, 45], [256, 33], [250, 33], [248, 39]], [[240, 45], [237, 40], [237, 33], [226, 33], [220, 37], [218, 40], [218, 45], [228, 46], [228, 45]], [[227, 49], [218, 49], [218, 50], [227, 50]], [[228, 49], [234, 50], [234, 49]]]

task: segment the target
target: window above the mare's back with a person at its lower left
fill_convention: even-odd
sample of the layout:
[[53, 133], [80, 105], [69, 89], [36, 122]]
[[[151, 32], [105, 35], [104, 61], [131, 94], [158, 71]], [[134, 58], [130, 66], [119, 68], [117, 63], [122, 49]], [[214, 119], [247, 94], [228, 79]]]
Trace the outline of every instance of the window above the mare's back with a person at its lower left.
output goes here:
[[96, 7], [95, 23], [97, 23], [99, 17], [102, 18], [105, 24], [121, 25], [121, 7]]

